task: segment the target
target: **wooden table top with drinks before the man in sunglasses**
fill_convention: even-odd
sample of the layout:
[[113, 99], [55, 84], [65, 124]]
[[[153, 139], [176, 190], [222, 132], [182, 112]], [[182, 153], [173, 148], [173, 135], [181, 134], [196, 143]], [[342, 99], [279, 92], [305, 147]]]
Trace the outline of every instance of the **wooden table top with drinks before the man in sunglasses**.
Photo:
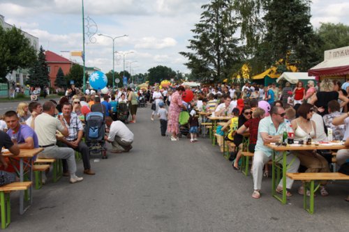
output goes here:
[[272, 144], [265, 144], [265, 146], [267, 146], [268, 148], [272, 148], [273, 150], [276, 151], [285, 151], [285, 150], [341, 150], [341, 149], [347, 149], [346, 146], [342, 145], [342, 144], [329, 144], [329, 145], [315, 145], [315, 144], [311, 144], [311, 145], [301, 145], [301, 144], [297, 144], [297, 145], [288, 145], [288, 146], [276, 146], [276, 145], [272, 145]]

